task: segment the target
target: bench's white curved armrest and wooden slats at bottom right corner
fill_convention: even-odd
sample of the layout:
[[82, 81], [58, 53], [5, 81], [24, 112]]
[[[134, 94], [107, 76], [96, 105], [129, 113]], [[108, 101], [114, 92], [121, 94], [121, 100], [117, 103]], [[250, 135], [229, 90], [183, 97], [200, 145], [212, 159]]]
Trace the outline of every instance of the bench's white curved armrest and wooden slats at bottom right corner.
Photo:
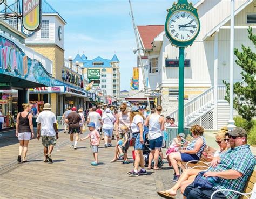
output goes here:
[[[252, 198], [255, 199], [256, 198], [256, 170], [253, 171], [252, 175], [248, 178], [246, 184], [245, 184], [245, 188], [244, 188], [244, 193], [240, 193], [239, 191], [235, 191], [235, 190], [230, 190], [230, 189], [220, 189], [217, 191], [214, 191], [211, 195], [211, 199], [213, 198], [213, 195], [219, 191], [232, 191], [235, 193], [238, 193], [240, 195], [242, 195], [242, 199], [245, 198]], [[249, 197], [250, 196], [250, 197]]]

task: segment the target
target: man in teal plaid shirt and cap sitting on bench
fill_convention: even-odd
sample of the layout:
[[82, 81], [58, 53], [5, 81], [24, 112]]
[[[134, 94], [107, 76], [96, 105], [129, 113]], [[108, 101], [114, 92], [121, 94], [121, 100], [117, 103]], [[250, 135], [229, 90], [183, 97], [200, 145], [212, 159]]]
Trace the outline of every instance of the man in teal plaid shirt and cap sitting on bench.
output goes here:
[[[204, 173], [204, 177], [210, 181], [216, 180], [212, 188], [194, 187], [194, 183], [188, 185], [183, 195], [187, 199], [210, 198], [215, 190], [232, 189], [242, 192], [248, 177], [252, 174], [255, 159], [250, 146], [247, 145], [247, 132], [237, 127], [227, 132], [230, 139], [230, 147], [226, 153], [220, 154], [213, 160], [212, 166]], [[217, 159], [217, 160], [216, 160]], [[214, 163], [215, 162], [215, 163]], [[238, 198], [239, 194], [223, 191], [213, 198]]]

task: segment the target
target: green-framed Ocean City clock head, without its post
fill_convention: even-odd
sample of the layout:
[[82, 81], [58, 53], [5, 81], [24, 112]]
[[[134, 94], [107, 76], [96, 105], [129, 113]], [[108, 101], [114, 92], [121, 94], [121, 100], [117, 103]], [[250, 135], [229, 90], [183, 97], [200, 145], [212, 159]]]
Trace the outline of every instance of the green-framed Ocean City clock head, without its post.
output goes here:
[[187, 0], [179, 0], [167, 11], [165, 34], [171, 44], [176, 47], [192, 45], [200, 31], [197, 9]]

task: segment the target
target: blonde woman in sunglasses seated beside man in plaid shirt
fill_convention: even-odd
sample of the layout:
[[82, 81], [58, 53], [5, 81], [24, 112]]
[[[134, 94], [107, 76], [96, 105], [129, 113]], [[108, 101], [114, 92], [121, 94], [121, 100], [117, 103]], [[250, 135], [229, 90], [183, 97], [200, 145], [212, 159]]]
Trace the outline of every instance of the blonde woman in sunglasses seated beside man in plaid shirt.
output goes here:
[[[225, 135], [226, 132], [227, 131], [225, 130], [221, 130], [216, 134], [216, 142], [219, 145], [220, 149], [215, 152], [214, 156], [212, 156], [212, 164], [216, 164], [216, 161], [219, 160], [219, 155], [226, 152], [228, 148], [230, 148], [228, 135]], [[178, 189], [180, 189], [181, 193], [183, 193], [185, 188], [194, 181], [197, 174], [201, 171], [202, 170], [200, 169], [183, 170], [183, 173], [181, 174], [177, 183], [171, 189], [165, 191], [158, 191], [158, 195], [165, 198], [174, 198], [177, 194]]]

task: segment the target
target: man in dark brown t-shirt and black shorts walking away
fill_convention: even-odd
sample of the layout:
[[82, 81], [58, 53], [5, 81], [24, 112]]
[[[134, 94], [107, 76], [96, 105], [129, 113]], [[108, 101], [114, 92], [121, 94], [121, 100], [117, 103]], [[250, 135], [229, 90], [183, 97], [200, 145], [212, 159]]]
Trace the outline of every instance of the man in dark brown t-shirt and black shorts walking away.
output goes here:
[[[77, 149], [77, 141], [79, 139], [79, 133], [80, 133], [80, 125], [79, 122], [82, 120], [81, 116], [76, 112], [77, 108], [72, 107], [71, 113], [69, 113], [68, 117], [66, 118], [66, 123], [69, 124], [69, 134], [70, 134], [70, 141], [71, 146], [70, 148]], [[74, 141], [74, 135], [75, 135], [75, 141]], [[74, 141], [74, 144], [72, 145]]]

